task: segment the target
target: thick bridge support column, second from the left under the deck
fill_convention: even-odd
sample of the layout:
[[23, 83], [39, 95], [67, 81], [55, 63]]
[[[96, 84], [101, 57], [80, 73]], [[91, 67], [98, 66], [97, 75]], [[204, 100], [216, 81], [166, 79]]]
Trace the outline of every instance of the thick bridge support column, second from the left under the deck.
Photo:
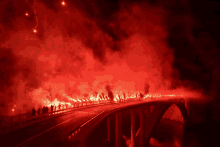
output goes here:
[[115, 147], [121, 147], [121, 113], [115, 115]]

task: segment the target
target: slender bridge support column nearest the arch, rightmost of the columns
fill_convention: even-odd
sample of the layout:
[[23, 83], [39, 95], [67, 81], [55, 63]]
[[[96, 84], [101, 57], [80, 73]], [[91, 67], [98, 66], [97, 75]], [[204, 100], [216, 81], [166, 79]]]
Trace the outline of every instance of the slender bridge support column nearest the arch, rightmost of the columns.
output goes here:
[[144, 109], [140, 108], [140, 146], [145, 143], [145, 128], [144, 128]]

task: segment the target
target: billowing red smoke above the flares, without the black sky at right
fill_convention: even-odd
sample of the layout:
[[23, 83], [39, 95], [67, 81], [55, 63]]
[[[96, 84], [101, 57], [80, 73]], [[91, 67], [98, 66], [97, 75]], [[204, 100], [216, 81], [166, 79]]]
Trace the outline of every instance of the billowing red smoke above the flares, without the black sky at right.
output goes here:
[[11, 28], [3, 30], [5, 23], [0, 24], [7, 34], [1, 42], [5, 54], [0, 55], [1, 66], [10, 73], [1, 85], [6, 87], [1, 91], [4, 106], [37, 108], [45, 105], [45, 99], [69, 102], [66, 96], [107, 95], [106, 85], [114, 94], [169, 93], [174, 52], [166, 40], [169, 12], [163, 7], [121, 2], [105, 18], [96, 3], [89, 13], [86, 6], [72, 1], [65, 7], [58, 1], [36, 1], [34, 34], [33, 3], [25, 2], [23, 14], [29, 10], [30, 18], [19, 10]]

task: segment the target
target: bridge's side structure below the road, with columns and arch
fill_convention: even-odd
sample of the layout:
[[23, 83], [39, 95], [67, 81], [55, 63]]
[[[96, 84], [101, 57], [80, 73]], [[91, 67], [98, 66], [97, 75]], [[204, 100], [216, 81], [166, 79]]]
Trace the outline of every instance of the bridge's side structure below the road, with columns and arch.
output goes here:
[[[96, 126], [103, 120], [107, 121], [107, 138], [106, 143], [115, 146], [122, 146], [122, 115], [124, 113], [130, 113], [130, 128], [128, 128], [131, 132], [131, 137], [129, 139], [129, 146], [147, 146], [151, 137], [152, 132], [155, 130], [157, 124], [164, 116], [165, 112], [169, 111], [170, 108], [176, 106], [179, 108], [182, 116], [183, 116], [183, 124], [186, 125], [188, 121], [188, 112], [185, 107], [185, 102], [183, 99], [173, 99], [173, 100], [165, 100], [165, 101], [147, 101], [141, 102], [137, 104], [123, 106], [117, 109], [113, 109], [106, 113], [102, 118], [100, 118], [96, 123]], [[172, 111], [172, 110], [171, 110]], [[169, 113], [167, 113], [169, 115]], [[139, 128], [138, 130], [135, 128], [136, 125], [136, 115], [138, 115], [139, 119]], [[168, 116], [169, 117], [169, 116]], [[113, 121], [111, 121], [113, 119]], [[114, 125], [111, 125], [111, 123]], [[112, 130], [112, 126], [114, 126], [114, 130]], [[93, 126], [95, 127], [95, 126]], [[69, 136], [69, 141], [75, 141], [76, 143], [80, 143], [80, 147], [88, 146], [87, 137], [88, 132], [83, 130], [82, 127], [78, 128], [78, 131], [82, 130], [82, 133], [77, 134], [77, 129], [72, 131]], [[136, 131], [137, 130], [137, 131]], [[91, 132], [91, 131], [90, 131]], [[76, 137], [74, 137], [76, 135]], [[114, 136], [113, 136], [114, 135]]]

